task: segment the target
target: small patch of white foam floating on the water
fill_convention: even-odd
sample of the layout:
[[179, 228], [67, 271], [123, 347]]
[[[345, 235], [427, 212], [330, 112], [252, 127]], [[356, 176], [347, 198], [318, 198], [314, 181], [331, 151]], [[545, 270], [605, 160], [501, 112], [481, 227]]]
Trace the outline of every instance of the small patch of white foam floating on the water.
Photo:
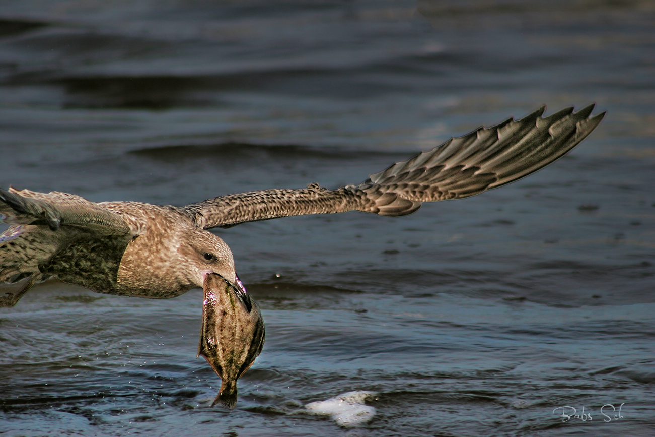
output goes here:
[[373, 419], [375, 408], [364, 404], [369, 396], [375, 396], [375, 392], [356, 390], [324, 401], [310, 402], [305, 408], [314, 414], [331, 416], [340, 427], [352, 428]]

